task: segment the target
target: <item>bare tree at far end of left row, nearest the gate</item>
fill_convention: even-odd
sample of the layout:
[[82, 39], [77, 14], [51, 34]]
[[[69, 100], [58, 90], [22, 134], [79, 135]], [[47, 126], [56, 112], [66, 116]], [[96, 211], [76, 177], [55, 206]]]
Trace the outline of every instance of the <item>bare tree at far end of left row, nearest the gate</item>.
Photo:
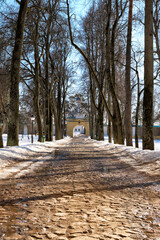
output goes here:
[[50, 98], [54, 115], [56, 140], [63, 138], [65, 128], [65, 101], [69, 80], [67, 58], [70, 52], [66, 41], [65, 29], [60, 28], [59, 30], [59, 40], [55, 41], [55, 48], [50, 53], [52, 68]]

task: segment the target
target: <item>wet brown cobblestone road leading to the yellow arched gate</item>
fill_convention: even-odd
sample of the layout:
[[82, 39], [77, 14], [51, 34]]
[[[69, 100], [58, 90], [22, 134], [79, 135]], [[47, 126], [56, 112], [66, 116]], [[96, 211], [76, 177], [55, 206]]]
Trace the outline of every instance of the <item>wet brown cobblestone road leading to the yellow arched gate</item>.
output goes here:
[[125, 157], [74, 138], [34, 171], [3, 179], [0, 239], [160, 240], [158, 176]]

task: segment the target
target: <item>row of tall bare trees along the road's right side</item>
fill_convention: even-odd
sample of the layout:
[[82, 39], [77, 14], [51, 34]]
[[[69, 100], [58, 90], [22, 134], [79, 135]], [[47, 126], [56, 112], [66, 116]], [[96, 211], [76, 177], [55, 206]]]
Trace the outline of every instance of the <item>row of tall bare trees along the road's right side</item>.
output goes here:
[[[145, 8], [145, 11], [142, 12], [143, 16], [145, 15], [145, 21], [143, 22], [145, 28], [145, 46], [143, 47], [144, 52], [142, 51], [142, 54], [144, 53], [144, 83], [141, 87], [137, 56], [134, 48], [132, 48], [131, 41], [133, 0], [98, 1], [98, 4], [93, 1], [92, 7], [83, 20], [82, 41], [84, 48], [79, 48], [73, 40], [68, 2], [71, 43], [81, 53], [87, 63], [86, 71], [88, 71], [89, 75], [92, 135], [95, 133], [97, 139], [104, 138], [103, 114], [104, 109], [106, 109], [109, 126], [111, 126], [110, 122], [112, 122], [114, 142], [124, 143], [124, 129], [126, 144], [128, 146], [132, 145], [132, 90], [137, 88], [136, 146], [138, 146], [137, 130], [140, 96], [144, 93], [143, 148], [154, 149], [153, 63], [156, 60], [158, 68], [155, 68], [155, 79], [158, 80], [159, 5], [159, 1], [145, 1], [145, 5], [141, 2], [141, 8], [143, 9], [143, 6]], [[126, 17], [127, 12], [128, 18]], [[136, 19], [136, 23], [140, 24], [142, 22], [142, 19], [136, 18], [136, 15], [134, 15], [134, 19]], [[155, 36], [154, 40], [156, 40], [154, 51], [153, 36]], [[131, 49], [133, 49], [132, 55]], [[131, 70], [133, 71], [131, 72]], [[142, 68], [141, 71], [143, 71]], [[131, 77], [134, 78], [134, 74], [137, 77], [136, 84], [134, 81], [131, 82]], [[122, 89], [125, 89], [125, 91]], [[97, 132], [97, 130], [101, 132]], [[111, 130], [109, 129], [109, 135], [110, 133]], [[111, 141], [111, 136], [109, 136], [109, 139]]]

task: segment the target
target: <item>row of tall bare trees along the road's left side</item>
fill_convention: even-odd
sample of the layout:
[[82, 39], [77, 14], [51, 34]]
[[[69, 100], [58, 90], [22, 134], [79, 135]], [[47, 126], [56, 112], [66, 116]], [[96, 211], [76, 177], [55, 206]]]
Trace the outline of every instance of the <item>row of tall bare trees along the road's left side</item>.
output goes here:
[[[46, 140], [52, 141], [53, 115], [56, 139], [62, 138], [64, 103], [72, 73], [67, 63], [70, 43], [63, 3], [58, 0], [17, 2], [18, 15], [14, 12], [18, 5], [1, 15], [1, 32], [4, 39], [2, 45], [6, 53], [3, 62], [8, 62], [11, 72], [7, 110], [9, 146], [18, 145], [20, 83], [20, 86], [23, 86], [21, 107], [30, 116], [35, 116], [39, 141], [42, 140], [43, 131]], [[13, 22], [16, 23], [16, 29], [13, 29]], [[3, 120], [5, 122], [5, 119]]]

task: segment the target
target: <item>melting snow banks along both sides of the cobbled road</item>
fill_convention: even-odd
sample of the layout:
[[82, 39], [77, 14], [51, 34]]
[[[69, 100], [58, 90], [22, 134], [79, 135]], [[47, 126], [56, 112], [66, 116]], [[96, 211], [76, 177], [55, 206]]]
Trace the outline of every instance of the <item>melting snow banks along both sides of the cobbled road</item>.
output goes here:
[[[37, 137], [34, 136], [34, 143], [31, 144], [31, 137], [20, 135], [19, 146], [16, 147], [6, 146], [6, 135], [3, 135], [3, 140], [5, 147], [0, 148], [0, 179], [9, 177], [13, 173], [16, 177], [19, 177], [26, 171], [30, 171], [37, 165], [42, 164], [49, 157], [53, 158], [54, 149], [58, 147], [58, 144], [66, 144], [70, 141], [70, 138], [40, 143], [37, 141]], [[160, 175], [160, 140], [155, 140], [155, 151], [143, 151], [141, 140], [139, 149], [109, 144], [107, 137], [105, 137], [105, 141], [92, 141], [95, 146], [113, 152], [120, 160], [137, 168], [138, 171], [144, 171], [151, 175]]]

